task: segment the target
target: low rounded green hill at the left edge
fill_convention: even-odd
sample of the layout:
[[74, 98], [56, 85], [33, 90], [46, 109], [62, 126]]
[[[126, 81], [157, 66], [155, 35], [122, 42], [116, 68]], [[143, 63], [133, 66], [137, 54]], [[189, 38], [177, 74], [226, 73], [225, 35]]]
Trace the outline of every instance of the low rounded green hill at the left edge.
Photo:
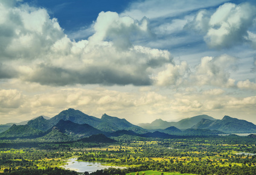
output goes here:
[[40, 130], [34, 129], [28, 125], [13, 124], [8, 130], [0, 133], [0, 138], [37, 138], [44, 133]]

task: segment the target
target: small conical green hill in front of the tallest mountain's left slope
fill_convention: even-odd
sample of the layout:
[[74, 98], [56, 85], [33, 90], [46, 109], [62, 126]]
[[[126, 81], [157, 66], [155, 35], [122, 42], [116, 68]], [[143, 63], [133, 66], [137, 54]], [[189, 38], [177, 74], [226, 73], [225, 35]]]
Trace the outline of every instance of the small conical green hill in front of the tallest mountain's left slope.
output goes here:
[[57, 127], [53, 127], [50, 133], [46, 134], [45, 136], [42, 136], [40, 138], [36, 138], [39, 142], [66, 142], [66, 141], [72, 141], [73, 139], [64, 133], [60, 132]]

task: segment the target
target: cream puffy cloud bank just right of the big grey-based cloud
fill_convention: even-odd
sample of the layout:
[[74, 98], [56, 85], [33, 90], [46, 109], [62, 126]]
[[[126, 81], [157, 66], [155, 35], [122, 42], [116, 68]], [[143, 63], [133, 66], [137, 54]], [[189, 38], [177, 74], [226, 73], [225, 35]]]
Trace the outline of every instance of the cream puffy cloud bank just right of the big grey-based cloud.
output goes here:
[[202, 57], [195, 68], [190, 68], [187, 62], [179, 65], [167, 65], [164, 71], [158, 72], [155, 83], [158, 86], [235, 86], [235, 80], [230, 78], [230, 70], [237, 69], [237, 58], [223, 54], [219, 57]]

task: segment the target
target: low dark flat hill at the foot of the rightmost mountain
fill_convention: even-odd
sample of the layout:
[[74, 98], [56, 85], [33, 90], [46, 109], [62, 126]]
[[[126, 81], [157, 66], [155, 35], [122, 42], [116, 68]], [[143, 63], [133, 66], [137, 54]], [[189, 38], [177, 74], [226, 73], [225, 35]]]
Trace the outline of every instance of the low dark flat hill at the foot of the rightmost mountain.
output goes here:
[[226, 133], [210, 129], [186, 129], [182, 135], [225, 135]]

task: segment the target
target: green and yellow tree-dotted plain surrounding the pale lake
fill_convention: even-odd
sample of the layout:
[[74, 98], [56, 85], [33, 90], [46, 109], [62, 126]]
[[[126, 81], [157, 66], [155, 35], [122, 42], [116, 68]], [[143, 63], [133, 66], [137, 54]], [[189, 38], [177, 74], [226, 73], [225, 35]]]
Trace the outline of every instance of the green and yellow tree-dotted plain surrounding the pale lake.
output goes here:
[[74, 142], [2, 140], [0, 172], [77, 174], [61, 167], [66, 159], [76, 156], [79, 161], [126, 167], [108, 168], [91, 174], [256, 174], [256, 139], [253, 137], [156, 139], [123, 135], [113, 137], [118, 141], [115, 143], [104, 143], [104, 139], [109, 138], [95, 135]]

